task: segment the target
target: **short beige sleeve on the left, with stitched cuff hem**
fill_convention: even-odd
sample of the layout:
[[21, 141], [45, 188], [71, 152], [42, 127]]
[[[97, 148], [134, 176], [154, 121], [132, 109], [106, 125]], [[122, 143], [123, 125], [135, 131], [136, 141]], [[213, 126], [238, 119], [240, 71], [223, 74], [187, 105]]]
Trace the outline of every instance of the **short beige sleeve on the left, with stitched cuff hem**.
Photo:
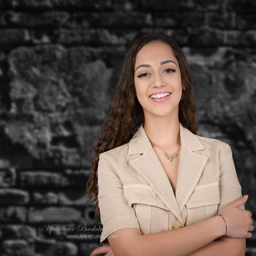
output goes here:
[[113, 168], [108, 155], [99, 156], [98, 164], [98, 201], [102, 232], [100, 244], [109, 245], [107, 236], [123, 228], [138, 228], [139, 223], [133, 207], [124, 197], [123, 184]]

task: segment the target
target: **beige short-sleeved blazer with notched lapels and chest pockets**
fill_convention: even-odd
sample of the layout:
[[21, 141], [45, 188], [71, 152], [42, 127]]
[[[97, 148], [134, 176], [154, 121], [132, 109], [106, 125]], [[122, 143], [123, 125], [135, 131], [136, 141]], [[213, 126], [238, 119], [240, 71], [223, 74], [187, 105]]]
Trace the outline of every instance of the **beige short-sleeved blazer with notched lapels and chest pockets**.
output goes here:
[[101, 244], [109, 245], [107, 236], [122, 228], [144, 235], [173, 229], [175, 222], [188, 226], [242, 197], [227, 143], [195, 135], [181, 123], [180, 139], [176, 197], [142, 124], [129, 143], [100, 154]]

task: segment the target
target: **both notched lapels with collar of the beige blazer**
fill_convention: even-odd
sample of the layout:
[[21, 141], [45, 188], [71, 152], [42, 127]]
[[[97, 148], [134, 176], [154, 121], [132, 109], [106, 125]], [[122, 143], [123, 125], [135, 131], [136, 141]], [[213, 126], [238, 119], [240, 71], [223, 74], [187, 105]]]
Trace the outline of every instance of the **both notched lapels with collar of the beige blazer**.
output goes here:
[[166, 207], [183, 223], [180, 212], [193, 192], [208, 158], [193, 152], [204, 149], [204, 145], [195, 134], [186, 129], [181, 123], [180, 140], [176, 198], [171, 183], [150, 144], [142, 124], [129, 142], [128, 154], [142, 154], [130, 160], [130, 164], [143, 176]]

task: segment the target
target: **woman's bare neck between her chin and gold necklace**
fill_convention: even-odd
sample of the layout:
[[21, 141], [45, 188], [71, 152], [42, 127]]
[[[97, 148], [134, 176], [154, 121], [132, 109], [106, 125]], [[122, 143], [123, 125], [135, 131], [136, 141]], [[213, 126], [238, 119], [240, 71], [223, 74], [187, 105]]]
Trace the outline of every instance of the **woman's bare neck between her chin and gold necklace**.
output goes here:
[[178, 118], [172, 121], [159, 120], [159, 122], [145, 120], [143, 128], [151, 145], [156, 145], [170, 152], [180, 148], [180, 122]]

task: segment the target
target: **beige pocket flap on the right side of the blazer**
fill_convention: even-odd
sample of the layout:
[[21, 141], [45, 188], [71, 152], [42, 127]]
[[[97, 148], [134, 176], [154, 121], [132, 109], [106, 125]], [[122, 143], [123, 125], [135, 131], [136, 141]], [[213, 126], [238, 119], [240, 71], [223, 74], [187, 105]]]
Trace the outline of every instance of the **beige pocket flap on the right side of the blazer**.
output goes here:
[[201, 186], [196, 186], [188, 201], [186, 206], [188, 208], [194, 208], [210, 204], [220, 203], [220, 189], [219, 181], [210, 184], [205, 184]]

